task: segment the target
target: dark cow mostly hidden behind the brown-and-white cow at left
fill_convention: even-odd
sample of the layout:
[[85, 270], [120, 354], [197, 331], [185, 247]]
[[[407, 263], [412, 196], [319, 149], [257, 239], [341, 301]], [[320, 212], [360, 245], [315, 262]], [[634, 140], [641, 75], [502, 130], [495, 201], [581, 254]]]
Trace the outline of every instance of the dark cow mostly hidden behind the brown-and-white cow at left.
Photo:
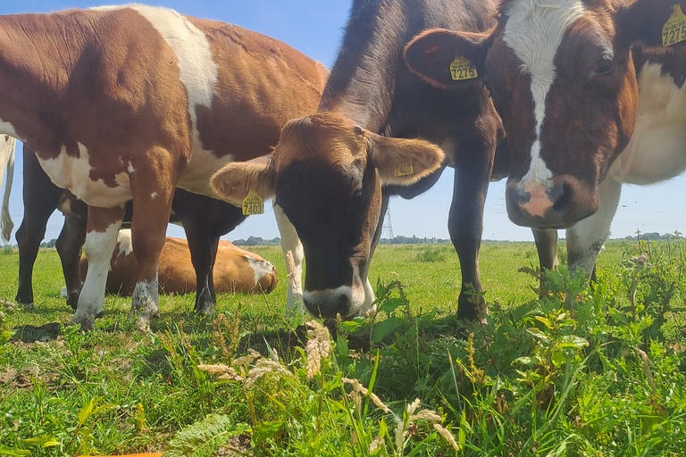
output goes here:
[[[60, 255], [66, 283], [67, 303], [76, 309], [81, 290], [79, 259], [86, 237], [87, 206], [68, 190], [53, 184], [40, 168], [36, 154], [27, 150], [23, 154], [24, 219], [17, 230], [19, 244], [19, 286], [17, 303], [33, 303], [32, 274], [38, 247], [45, 237], [50, 215], [59, 208], [65, 215], [64, 225], [55, 247]], [[130, 203], [122, 225], [130, 225]], [[197, 312], [205, 314], [214, 304], [212, 269], [219, 237], [229, 233], [246, 219], [241, 210], [204, 195], [176, 189], [171, 202], [171, 222], [181, 223], [188, 237], [190, 256], [196, 271]]]

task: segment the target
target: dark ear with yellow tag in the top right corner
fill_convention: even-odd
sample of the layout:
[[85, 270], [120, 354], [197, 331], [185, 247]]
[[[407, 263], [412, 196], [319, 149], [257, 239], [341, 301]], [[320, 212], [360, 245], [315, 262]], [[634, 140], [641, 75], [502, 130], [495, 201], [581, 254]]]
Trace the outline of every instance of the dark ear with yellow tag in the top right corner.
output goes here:
[[615, 15], [620, 46], [686, 46], [686, 0], [638, 0]]

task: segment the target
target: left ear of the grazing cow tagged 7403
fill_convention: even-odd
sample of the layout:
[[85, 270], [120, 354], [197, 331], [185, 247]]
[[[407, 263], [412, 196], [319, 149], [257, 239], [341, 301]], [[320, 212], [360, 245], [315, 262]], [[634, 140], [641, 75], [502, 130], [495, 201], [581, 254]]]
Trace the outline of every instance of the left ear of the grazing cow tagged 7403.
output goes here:
[[240, 206], [250, 191], [264, 200], [274, 196], [276, 172], [273, 155], [264, 155], [247, 162], [231, 162], [214, 173], [210, 181], [214, 191], [230, 204]]

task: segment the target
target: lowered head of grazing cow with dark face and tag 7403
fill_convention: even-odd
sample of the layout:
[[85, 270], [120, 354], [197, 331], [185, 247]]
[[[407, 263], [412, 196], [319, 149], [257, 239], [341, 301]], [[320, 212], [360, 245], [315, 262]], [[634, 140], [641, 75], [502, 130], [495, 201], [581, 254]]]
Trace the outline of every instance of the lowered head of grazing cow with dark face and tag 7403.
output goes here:
[[372, 305], [367, 280], [383, 185], [411, 185], [442, 164], [438, 146], [381, 137], [337, 113], [291, 120], [272, 154], [234, 162], [212, 185], [240, 204], [249, 191], [275, 197], [305, 249], [305, 307], [324, 318]]

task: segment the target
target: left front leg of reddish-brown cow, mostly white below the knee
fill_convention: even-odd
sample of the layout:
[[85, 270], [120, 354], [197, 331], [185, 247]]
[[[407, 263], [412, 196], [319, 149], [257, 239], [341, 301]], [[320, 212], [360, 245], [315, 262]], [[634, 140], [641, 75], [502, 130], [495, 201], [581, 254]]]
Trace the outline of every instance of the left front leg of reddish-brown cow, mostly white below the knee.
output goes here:
[[88, 222], [84, 250], [88, 258], [88, 273], [83, 283], [79, 304], [71, 321], [90, 330], [96, 317], [103, 312], [105, 286], [114, 246], [124, 217], [124, 207], [97, 208], [88, 206]]

